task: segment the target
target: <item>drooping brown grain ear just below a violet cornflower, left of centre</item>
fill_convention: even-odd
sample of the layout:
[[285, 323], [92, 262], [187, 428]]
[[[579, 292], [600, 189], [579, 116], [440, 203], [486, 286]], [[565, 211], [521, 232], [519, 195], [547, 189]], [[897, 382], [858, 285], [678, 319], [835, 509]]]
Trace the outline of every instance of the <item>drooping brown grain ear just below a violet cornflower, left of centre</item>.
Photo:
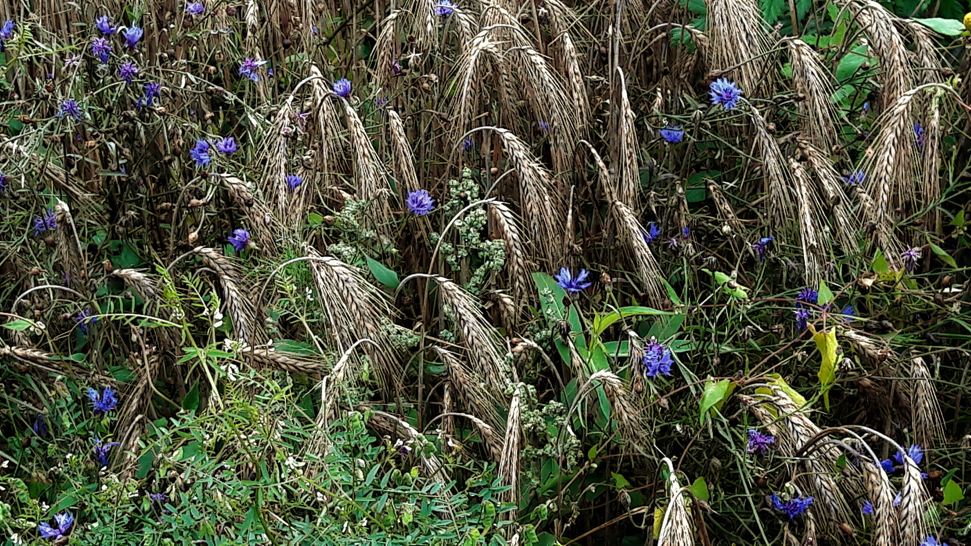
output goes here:
[[263, 309], [255, 304], [252, 294], [247, 290], [243, 272], [216, 249], [196, 247], [192, 253], [201, 257], [206, 267], [216, 271], [222, 287], [222, 299], [233, 319], [237, 338], [246, 345], [264, 345], [269, 339], [266, 319]]

